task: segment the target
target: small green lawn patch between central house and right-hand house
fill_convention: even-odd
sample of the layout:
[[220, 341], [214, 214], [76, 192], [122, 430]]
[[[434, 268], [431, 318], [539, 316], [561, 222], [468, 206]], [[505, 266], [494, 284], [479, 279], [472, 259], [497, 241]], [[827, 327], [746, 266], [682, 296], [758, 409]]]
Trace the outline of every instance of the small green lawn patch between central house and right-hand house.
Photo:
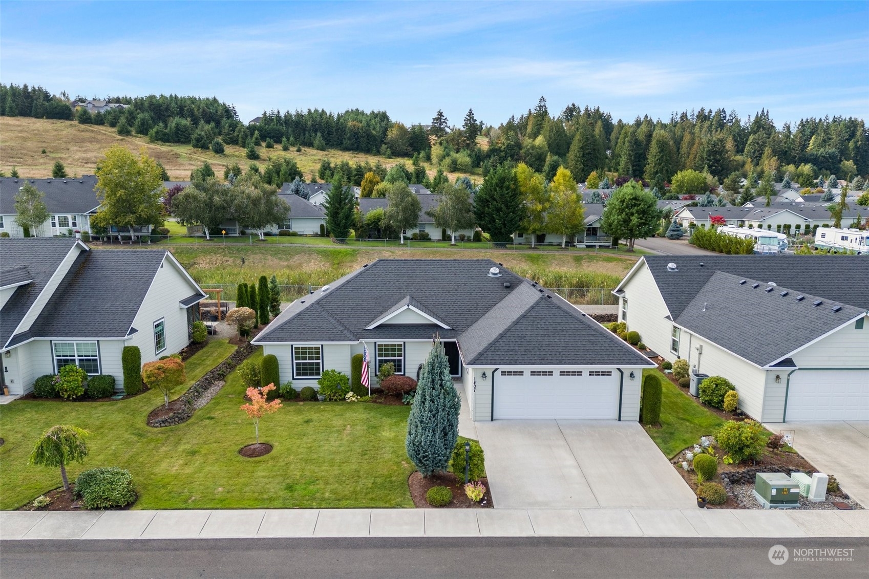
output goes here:
[[647, 428], [648, 435], [667, 458], [673, 458], [694, 443], [700, 436], [711, 435], [719, 429], [724, 420], [700, 406], [682, 392], [675, 384], [656, 369], [647, 369], [645, 374], [660, 377], [660, 429]]

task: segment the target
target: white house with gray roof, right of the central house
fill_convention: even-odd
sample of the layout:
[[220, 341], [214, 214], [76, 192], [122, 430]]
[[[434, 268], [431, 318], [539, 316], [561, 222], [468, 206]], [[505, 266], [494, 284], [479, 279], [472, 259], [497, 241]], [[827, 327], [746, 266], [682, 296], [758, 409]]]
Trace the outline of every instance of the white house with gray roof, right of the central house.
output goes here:
[[614, 294], [647, 347], [726, 377], [756, 420], [869, 420], [867, 279], [859, 256], [644, 256]]

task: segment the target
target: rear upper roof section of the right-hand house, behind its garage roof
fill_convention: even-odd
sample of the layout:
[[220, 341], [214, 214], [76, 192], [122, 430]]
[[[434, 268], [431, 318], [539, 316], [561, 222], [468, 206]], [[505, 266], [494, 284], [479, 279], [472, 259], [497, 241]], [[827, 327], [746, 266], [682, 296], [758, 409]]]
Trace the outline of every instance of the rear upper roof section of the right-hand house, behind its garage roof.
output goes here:
[[[680, 316], [716, 271], [774, 282], [813, 296], [869, 309], [869, 259], [860, 256], [644, 256], [673, 317]], [[679, 271], [668, 271], [667, 263]], [[700, 265], [702, 263], [702, 265]]]

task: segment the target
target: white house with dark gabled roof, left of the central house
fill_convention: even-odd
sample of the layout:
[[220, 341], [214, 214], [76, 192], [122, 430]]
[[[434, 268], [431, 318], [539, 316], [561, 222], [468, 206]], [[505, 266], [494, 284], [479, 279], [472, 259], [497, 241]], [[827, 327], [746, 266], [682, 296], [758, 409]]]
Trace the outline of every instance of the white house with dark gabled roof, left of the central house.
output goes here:
[[0, 263], [0, 377], [15, 395], [70, 363], [122, 389], [123, 347], [138, 346], [143, 363], [184, 348], [205, 297], [165, 250], [3, 239]]

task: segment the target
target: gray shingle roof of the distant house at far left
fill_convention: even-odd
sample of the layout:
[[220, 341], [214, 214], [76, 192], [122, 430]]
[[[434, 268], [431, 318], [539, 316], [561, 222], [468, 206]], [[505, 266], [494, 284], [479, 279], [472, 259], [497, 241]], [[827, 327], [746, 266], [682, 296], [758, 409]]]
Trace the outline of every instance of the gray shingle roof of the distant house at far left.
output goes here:
[[43, 201], [50, 213], [87, 214], [99, 207], [96, 198], [96, 176], [83, 175], [77, 179], [13, 179], [0, 177], [0, 214], [13, 215], [18, 190], [30, 183], [45, 194]]

